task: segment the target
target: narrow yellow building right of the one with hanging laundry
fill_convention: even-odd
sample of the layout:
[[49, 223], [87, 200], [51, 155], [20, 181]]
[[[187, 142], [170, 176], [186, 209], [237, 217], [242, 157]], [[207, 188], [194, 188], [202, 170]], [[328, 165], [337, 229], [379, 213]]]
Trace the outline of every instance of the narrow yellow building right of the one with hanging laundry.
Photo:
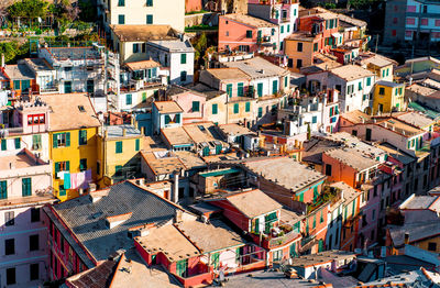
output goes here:
[[139, 152], [143, 133], [133, 125], [103, 126], [98, 134], [98, 184], [100, 187], [140, 177]]

